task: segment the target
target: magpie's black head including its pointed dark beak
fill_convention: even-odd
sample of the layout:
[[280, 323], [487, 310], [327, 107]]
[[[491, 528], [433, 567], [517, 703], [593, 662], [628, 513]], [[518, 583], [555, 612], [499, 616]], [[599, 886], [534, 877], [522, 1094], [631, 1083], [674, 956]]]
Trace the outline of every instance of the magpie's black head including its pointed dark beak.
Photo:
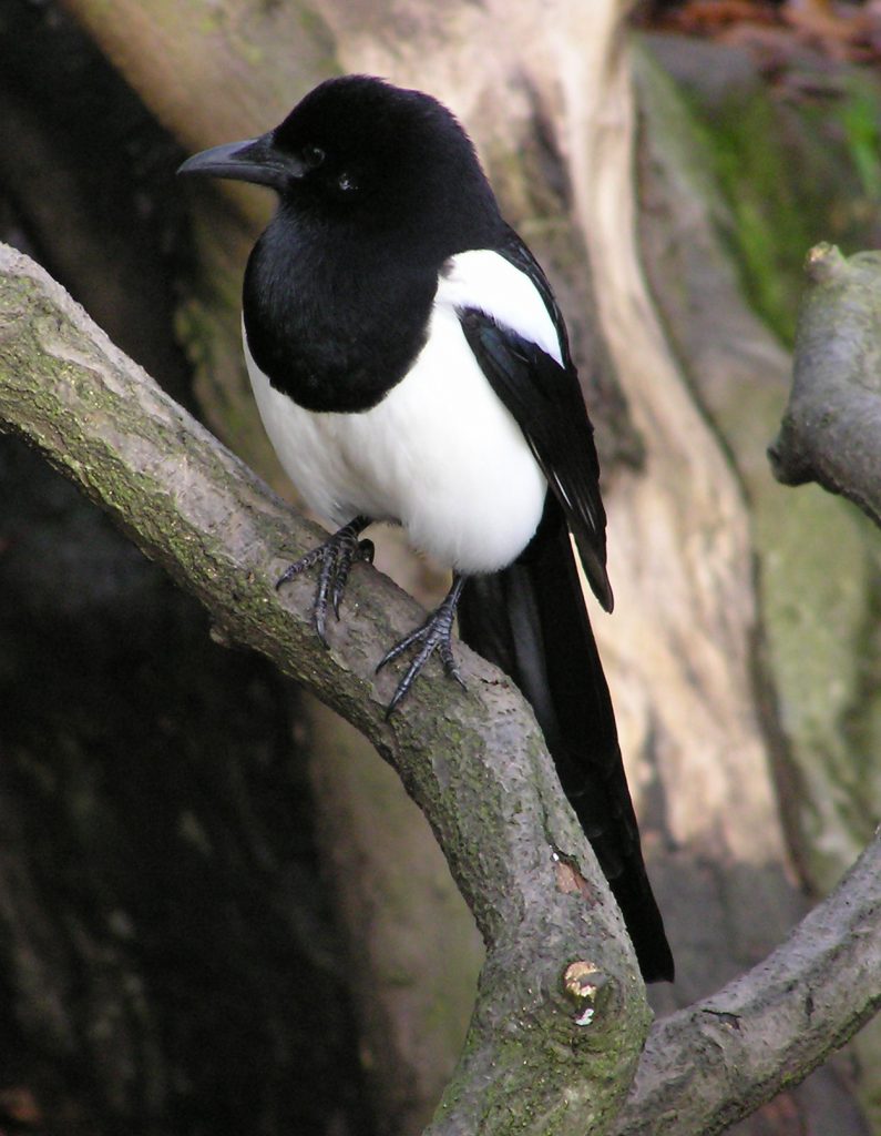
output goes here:
[[454, 116], [366, 75], [321, 83], [274, 131], [196, 154], [181, 173], [269, 185], [283, 210], [361, 232], [431, 233], [445, 254], [486, 243], [501, 224]]

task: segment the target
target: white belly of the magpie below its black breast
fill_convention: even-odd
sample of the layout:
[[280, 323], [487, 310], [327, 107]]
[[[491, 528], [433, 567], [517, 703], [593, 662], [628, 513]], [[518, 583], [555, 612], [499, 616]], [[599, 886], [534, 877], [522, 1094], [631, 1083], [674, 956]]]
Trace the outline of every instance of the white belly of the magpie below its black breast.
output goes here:
[[526, 548], [547, 483], [438, 306], [413, 368], [372, 410], [314, 414], [245, 358], [269, 438], [307, 503], [334, 527], [358, 515], [400, 521], [411, 543], [463, 573], [495, 571]]

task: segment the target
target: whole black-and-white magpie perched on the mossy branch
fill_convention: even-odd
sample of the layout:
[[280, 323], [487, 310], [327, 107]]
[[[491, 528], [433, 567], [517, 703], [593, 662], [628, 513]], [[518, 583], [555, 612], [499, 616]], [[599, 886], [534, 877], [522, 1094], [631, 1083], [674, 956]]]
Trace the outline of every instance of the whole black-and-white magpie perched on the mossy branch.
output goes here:
[[593, 426], [551, 286], [470, 139], [430, 95], [345, 75], [181, 173], [278, 194], [245, 269], [245, 360], [282, 466], [337, 529], [279, 584], [317, 569], [324, 640], [369, 525], [452, 568], [379, 663], [411, 655], [388, 712], [435, 652], [461, 683], [458, 617], [531, 703], [644, 978], [672, 980], [572, 548], [611, 611]]

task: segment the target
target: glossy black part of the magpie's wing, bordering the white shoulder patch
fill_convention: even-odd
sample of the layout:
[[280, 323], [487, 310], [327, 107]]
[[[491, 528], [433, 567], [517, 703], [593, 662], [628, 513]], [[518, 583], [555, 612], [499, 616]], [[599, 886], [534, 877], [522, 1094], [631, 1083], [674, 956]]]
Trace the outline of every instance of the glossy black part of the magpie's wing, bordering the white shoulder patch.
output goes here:
[[596, 598], [612, 610], [606, 574], [605, 510], [599, 496], [599, 461], [594, 428], [587, 416], [578, 374], [569, 356], [565, 327], [551, 289], [526, 247], [518, 242], [518, 258], [554, 320], [563, 366], [510, 327], [476, 308], [460, 311], [465, 340], [490, 386], [513, 415], [536, 461], [547, 478], [576, 540], [581, 562]]

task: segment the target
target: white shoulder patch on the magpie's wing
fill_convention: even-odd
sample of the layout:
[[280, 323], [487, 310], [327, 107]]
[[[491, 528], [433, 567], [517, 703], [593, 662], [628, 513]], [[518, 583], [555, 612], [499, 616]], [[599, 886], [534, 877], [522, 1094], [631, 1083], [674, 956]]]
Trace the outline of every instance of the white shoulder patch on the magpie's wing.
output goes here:
[[476, 308], [562, 366], [560, 336], [538, 290], [497, 252], [473, 249], [451, 257], [440, 273], [435, 304], [455, 310]]

